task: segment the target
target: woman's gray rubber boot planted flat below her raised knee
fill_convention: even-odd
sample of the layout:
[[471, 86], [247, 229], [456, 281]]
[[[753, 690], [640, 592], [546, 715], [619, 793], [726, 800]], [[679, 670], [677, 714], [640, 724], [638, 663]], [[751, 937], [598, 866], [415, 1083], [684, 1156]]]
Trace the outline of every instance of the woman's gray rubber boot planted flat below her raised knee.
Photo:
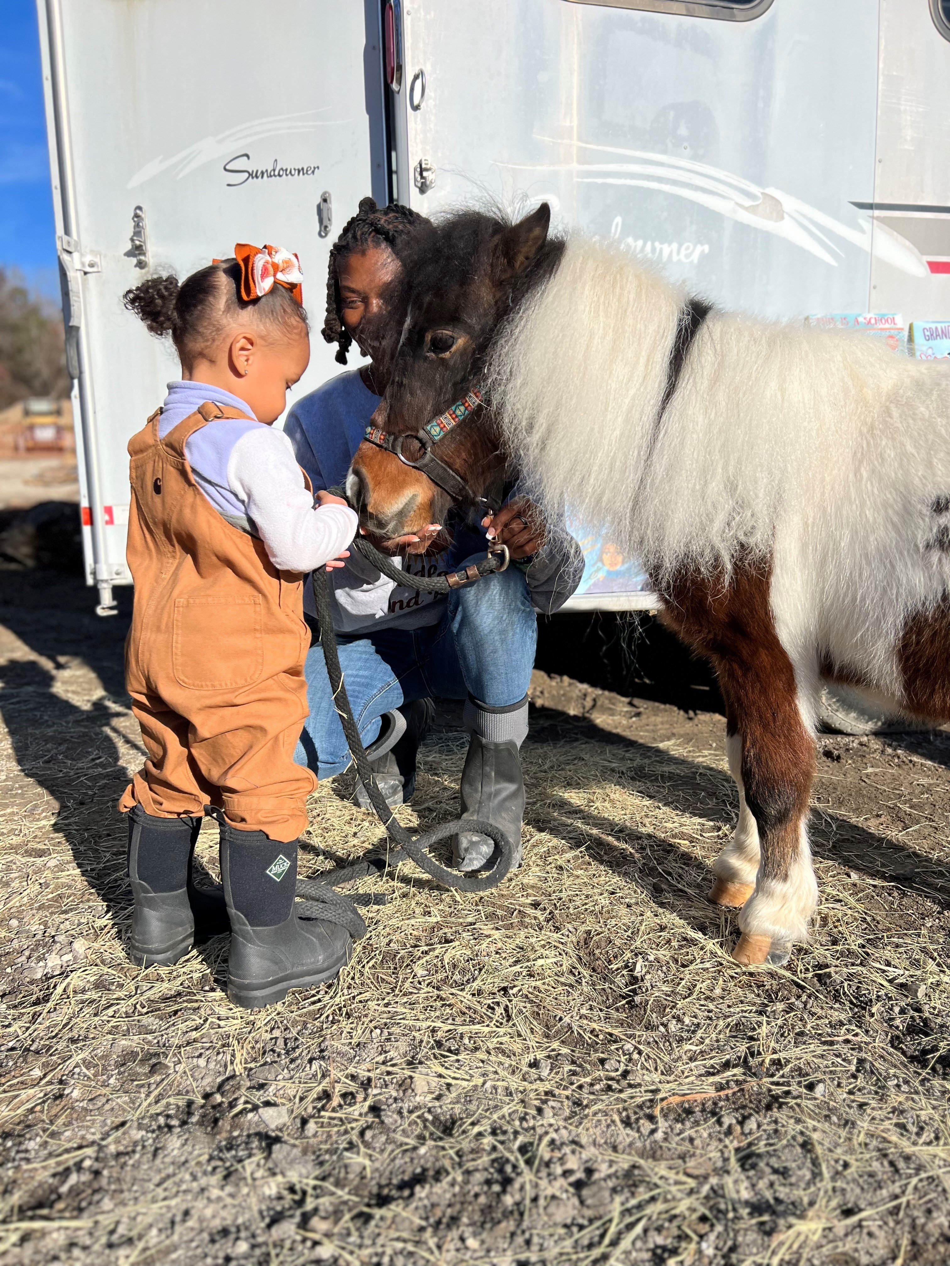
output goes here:
[[[524, 780], [519, 748], [528, 733], [528, 700], [509, 708], [488, 708], [469, 696], [465, 724], [470, 733], [461, 785], [461, 817], [500, 827], [514, 846], [512, 870], [521, 866]], [[452, 860], [460, 871], [480, 870], [491, 857], [488, 836], [460, 832], [452, 838]]]

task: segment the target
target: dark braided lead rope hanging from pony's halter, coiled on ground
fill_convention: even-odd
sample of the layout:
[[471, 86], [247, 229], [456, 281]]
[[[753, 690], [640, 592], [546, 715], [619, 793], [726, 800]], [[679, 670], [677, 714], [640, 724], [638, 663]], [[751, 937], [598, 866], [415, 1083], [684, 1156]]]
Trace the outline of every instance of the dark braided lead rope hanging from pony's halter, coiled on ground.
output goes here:
[[[391, 560], [380, 553], [365, 538], [360, 537], [353, 541], [353, 547], [381, 571], [384, 576], [395, 580], [400, 585], [408, 585], [410, 589], [418, 589], [427, 594], [447, 594], [452, 589], [472, 584], [483, 576], [490, 576], [495, 571], [504, 571], [508, 566], [508, 551], [502, 547], [497, 553], [489, 553], [480, 563], [466, 567], [462, 572], [453, 572], [451, 576], [412, 576], [409, 572], [395, 567]], [[313, 573], [313, 600], [320, 628], [320, 646], [323, 648], [323, 658], [327, 663], [327, 676], [333, 691], [333, 703], [339, 717], [339, 723], [343, 727], [343, 734], [350, 744], [356, 772], [366, 787], [370, 803], [385, 827], [386, 834], [395, 842], [396, 847], [390, 847], [388, 842], [385, 848], [372, 848], [350, 866], [337, 866], [334, 870], [326, 871], [318, 879], [299, 879], [296, 881], [296, 894], [305, 899], [304, 908], [299, 913], [304, 917], [324, 918], [333, 923], [343, 923], [358, 938], [366, 931], [366, 925], [355, 909], [355, 905], [379, 904], [379, 901], [374, 898], [367, 899], [365, 894], [356, 898], [347, 898], [333, 893], [332, 889], [337, 885], [364, 879], [367, 875], [381, 875], [399, 866], [400, 862], [410, 860], [446, 887], [453, 887], [461, 893], [486, 893], [489, 889], [497, 887], [512, 868], [514, 849], [512, 841], [499, 827], [495, 827], [490, 822], [481, 822], [480, 819], [466, 818], [462, 820], [461, 818], [456, 818], [452, 822], [443, 822], [440, 827], [433, 827], [432, 830], [427, 830], [414, 839], [396, 820], [379, 789], [376, 776], [372, 772], [366, 749], [360, 738], [352, 706], [350, 705], [350, 696], [343, 682], [343, 670], [339, 666], [337, 638], [333, 629], [329, 580], [324, 568], [319, 568]], [[478, 875], [464, 875], [460, 871], [440, 866], [438, 862], [427, 856], [427, 851], [433, 844], [441, 839], [447, 839], [450, 836], [459, 834], [460, 830], [488, 836], [494, 843], [495, 851], [491, 855], [491, 866], [489, 870], [481, 871]], [[352, 915], [350, 910], [345, 912], [342, 909], [341, 903], [346, 903]], [[362, 931], [357, 929], [357, 922]]]

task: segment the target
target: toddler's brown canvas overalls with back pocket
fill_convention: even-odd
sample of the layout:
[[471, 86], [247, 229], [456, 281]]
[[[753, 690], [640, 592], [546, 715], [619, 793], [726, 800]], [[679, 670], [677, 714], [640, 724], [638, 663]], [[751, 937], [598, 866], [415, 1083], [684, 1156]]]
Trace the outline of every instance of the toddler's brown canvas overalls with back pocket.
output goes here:
[[129, 442], [125, 682], [148, 760], [119, 808], [177, 818], [213, 804], [238, 829], [289, 842], [317, 785], [294, 763], [308, 711], [303, 577], [218, 514], [185, 458], [189, 436], [241, 417], [203, 404], [160, 439], [155, 413]]

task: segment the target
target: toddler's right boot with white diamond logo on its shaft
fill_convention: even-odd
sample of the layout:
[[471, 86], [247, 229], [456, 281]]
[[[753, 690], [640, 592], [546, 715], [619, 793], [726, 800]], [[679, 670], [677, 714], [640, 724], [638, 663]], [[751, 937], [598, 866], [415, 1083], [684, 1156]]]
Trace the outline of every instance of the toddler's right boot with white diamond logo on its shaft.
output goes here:
[[270, 1006], [289, 989], [322, 985], [346, 966], [346, 928], [300, 919], [294, 909], [296, 841], [276, 843], [262, 830], [220, 828], [220, 871], [231, 918], [228, 998], [238, 1006]]

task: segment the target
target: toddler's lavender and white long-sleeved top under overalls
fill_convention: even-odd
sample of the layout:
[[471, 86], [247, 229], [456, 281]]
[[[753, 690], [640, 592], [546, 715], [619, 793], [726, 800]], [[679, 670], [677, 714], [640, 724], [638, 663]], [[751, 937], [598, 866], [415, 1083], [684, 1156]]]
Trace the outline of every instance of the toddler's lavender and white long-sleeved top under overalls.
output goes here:
[[257, 422], [238, 396], [208, 382], [170, 382], [158, 438], [206, 401], [247, 414], [209, 422], [185, 443], [195, 482], [214, 509], [260, 537], [279, 571], [313, 571], [346, 549], [356, 536], [355, 511], [314, 505], [288, 437]]

